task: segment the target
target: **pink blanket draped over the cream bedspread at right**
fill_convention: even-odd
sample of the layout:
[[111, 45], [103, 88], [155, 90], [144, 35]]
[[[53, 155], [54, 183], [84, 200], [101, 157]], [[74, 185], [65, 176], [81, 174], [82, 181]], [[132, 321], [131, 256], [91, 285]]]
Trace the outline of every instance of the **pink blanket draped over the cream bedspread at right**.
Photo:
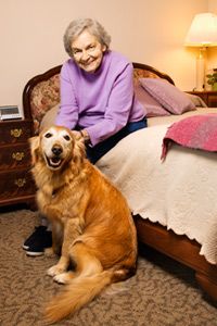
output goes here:
[[205, 151], [217, 151], [217, 114], [194, 115], [174, 123], [163, 139], [162, 160], [173, 143]]

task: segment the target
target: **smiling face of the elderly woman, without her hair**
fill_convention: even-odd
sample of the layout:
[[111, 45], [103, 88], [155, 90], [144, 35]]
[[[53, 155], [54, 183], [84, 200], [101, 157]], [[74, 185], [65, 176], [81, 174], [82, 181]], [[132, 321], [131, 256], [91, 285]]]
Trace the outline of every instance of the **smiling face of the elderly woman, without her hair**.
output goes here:
[[85, 29], [73, 42], [73, 58], [77, 65], [87, 73], [94, 73], [100, 66], [103, 52], [106, 50], [95, 36]]

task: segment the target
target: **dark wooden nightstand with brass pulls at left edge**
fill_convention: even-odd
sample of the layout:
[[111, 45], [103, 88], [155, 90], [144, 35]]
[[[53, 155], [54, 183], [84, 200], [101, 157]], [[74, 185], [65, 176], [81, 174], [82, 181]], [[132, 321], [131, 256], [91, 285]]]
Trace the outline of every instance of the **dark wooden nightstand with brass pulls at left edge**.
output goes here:
[[30, 120], [0, 121], [0, 206], [34, 205], [35, 181], [30, 173]]

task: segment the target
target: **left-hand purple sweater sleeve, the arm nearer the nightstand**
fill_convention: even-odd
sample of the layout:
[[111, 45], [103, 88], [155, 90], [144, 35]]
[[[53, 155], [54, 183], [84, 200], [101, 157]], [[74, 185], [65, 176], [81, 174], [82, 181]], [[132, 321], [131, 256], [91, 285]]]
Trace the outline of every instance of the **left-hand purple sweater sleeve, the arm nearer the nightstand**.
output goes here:
[[78, 104], [69, 78], [67, 65], [61, 70], [61, 105], [55, 118], [55, 124], [74, 129], [78, 122]]

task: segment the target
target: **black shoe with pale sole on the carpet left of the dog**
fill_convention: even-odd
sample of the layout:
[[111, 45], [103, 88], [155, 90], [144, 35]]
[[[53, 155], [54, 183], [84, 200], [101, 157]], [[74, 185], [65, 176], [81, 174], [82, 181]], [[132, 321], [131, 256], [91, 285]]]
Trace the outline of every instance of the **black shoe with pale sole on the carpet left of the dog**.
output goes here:
[[46, 248], [52, 247], [52, 233], [46, 226], [35, 228], [33, 235], [24, 242], [23, 249], [27, 255], [41, 255]]

